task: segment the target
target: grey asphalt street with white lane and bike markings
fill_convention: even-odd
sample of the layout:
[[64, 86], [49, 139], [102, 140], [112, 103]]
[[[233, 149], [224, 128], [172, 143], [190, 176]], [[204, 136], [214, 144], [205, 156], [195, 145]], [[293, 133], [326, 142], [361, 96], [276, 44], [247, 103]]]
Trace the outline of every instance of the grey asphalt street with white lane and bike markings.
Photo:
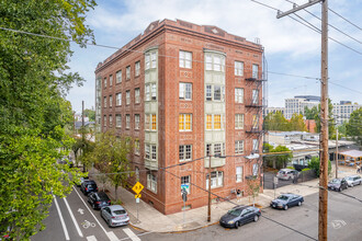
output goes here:
[[[362, 186], [348, 188], [343, 194], [362, 199]], [[328, 238], [329, 240], [361, 240], [362, 203], [338, 192], [329, 192]], [[225, 229], [213, 225], [195, 231], [182, 233], [142, 232], [131, 226], [109, 228], [93, 210], [86, 196], [75, 187], [66, 198], [75, 220], [64, 198], [57, 204], [64, 222], [54, 203], [49, 217], [44, 220], [47, 228], [32, 237], [34, 241], [60, 240], [313, 240], [318, 238], [318, 193], [306, 196], [302, 207], [278, 210], [267, 207], [257, 223], [251, 222], [239, 229]], [[131, 215], [131, 214], [129, 214]], [[268, 218], [268, 219], [267, 219]], [[270, 220], [271, 219], [271, 220]], [[89, 221], [89, 223], [87, 222]], [[276, 223], [279, 222], [279, 223]], [[65, 228], [63, 227], [65, 226]], [[283, 227], [286, 226], [286, 227]], [[302, 233], [298, 233], [302, 232]], [[303, 236], [305, 234], [305, 236]], [[69, 238], [67, 238], [69, 237]], [[310, 237], [310, 238], [308, 238]]]

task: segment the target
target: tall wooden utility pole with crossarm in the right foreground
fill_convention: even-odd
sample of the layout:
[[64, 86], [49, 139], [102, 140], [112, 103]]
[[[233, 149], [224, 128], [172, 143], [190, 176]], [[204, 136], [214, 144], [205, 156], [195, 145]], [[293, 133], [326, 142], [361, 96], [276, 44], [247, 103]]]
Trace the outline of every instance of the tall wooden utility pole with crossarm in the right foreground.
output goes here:
[[321, 2], [321, 68], [320, 68], [320, 175], [318, 240], [327, 241], [328, 211], [328, 0], [309, 0], [303, 5], [293, 5], [292, 10], [278, 12], [276, 19], [295, 13], [315, 3]]

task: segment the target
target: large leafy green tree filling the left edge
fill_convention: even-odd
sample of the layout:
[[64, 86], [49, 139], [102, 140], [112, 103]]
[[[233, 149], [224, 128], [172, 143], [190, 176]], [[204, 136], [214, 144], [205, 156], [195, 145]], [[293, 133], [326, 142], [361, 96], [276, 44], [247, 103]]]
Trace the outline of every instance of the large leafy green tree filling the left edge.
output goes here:
[[[93, 0], [1, 1], [1, 26], [76, 41], [93, 39], [86, 13]], [[73, 142], [64, 97], [78, 73], [65, 72], [70, 43], [0, 30], [0, 230], [27, 240], [44, 228], [53, 194], [70, 192], [68, 165], [57, 160]], [[64, 172], [63, 172], [64, 171]], [[1, 234], [1, 233], [0, 233]]]

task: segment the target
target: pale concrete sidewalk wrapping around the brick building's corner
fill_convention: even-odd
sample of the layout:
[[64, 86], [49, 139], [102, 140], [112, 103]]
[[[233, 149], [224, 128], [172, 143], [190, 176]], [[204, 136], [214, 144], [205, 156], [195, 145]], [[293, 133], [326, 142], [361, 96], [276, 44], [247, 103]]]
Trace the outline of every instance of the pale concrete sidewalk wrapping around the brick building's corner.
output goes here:
[[[332, 167], [332, 172], [335, 167]], [[97, 175], [92, 176], [92, 173], [98, 172], [97, 170], [91, 170], [89, 175], [97, 182]], [[343, 177], [348, 175], [355, 174], [354, 168], [341, 167], [339, 165], [338, 177]], [[335, 176], [335, 174], [332, 175]], [[332, 179], [332, 177], [330, 177]], [[282, 193], [295, 193], [302, 196], [307, 196], [318, 192], [318, 179], [299, 183], [283, 186], [275, 190], [275, 195]], [[102, 187], [102, 186], [100, 186]], [[99, 187], [99, 188], [100, 188]], [[114, 187], [109, 184], [105, 185], [106, 190], [110, 192], [109, 195], [114, 198]], [[139, 204], [136, 204], [135, 194], [128, 192], [125, 188], [118, 187], [117, 190], [118, 197], [123, 202], [123, 206], [127, 209], [131, 225], [136, 229], [142, 229], [145, 231], [151, 232], [182, 232], [191, 231], [200, 228], [207, 227], [210, 225], [218, 223], [219, 218], [227, 213], [227, 210], [235, 207], [235, 204], [238, 205], [252, 205], [251, 197], [242, 197], [237, 202], [237, 199], [231, 199], [229, 202], [220, 202], [218, 204], [212, 205], [212, 220], [211, 222], [206, 221], [207, 218], [207, 206], [194, 208], [185, 211], [185, 222], [183, 223], [183, 213], [163, 215], [143, 202], [139, 200]], [[274, 199], [274, 190], [264, 190], [263, 193], [260, 193], [256, 198], [256, 204], [262, 206], [262, 208], [269, 207], [270, 202]], [[138, 206], [138, 207], [137, 207]], [[138, 208], [138, 220], [137, 220], [137, 208]]]

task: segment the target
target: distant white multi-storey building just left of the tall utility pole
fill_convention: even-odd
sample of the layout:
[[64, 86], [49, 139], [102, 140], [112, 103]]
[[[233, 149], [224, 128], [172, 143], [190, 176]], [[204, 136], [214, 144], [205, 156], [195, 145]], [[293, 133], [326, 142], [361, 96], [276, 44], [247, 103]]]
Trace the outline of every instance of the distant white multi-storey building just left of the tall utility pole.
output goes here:
[[284, 117], [290, 119], [294, 113], [304, 115], [306, 106], [312, 108], [313, 106], [318, 106], [319, 103], [320, 97], [315, 95], [296, 95], [292, 99], [285, 99]]

